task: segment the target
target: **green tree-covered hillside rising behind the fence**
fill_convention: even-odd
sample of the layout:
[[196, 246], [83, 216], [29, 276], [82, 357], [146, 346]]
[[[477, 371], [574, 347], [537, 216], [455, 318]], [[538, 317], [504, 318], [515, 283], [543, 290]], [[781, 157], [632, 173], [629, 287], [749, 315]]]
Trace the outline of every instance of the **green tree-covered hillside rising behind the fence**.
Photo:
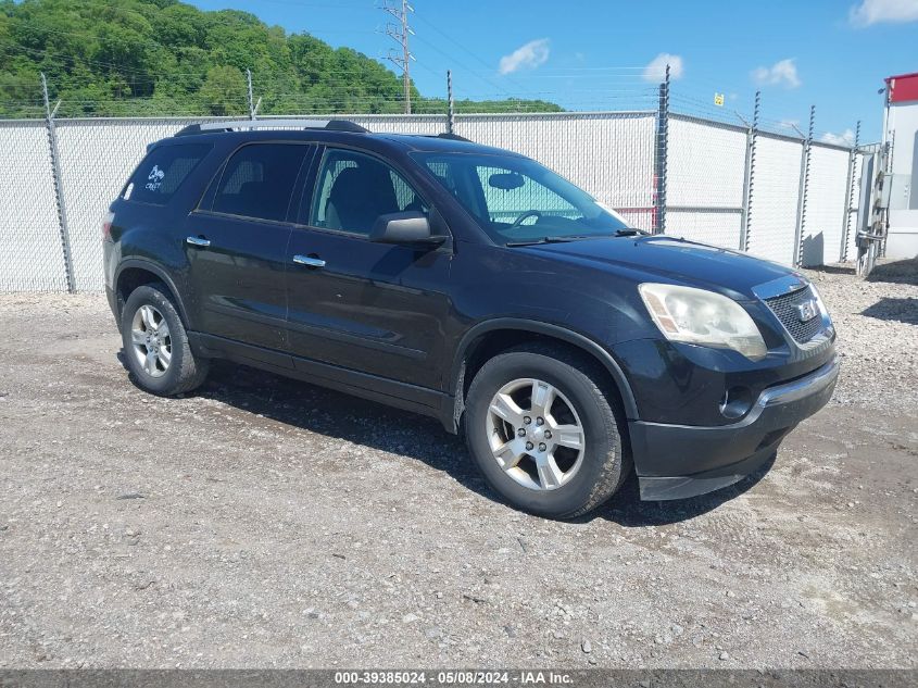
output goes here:
[[[246, 70], [265, 114], [402, 112], [400, 75], [350, 48], [237, 10], [176, 0], [0, 0], [0, 116], [38, 116], [40, 73], [59, 116], [242, 115]], [[412, 87], [413, 111], [442, 99]], [[558, 111], [538, 100], [460, 101], [462, 112]]]

